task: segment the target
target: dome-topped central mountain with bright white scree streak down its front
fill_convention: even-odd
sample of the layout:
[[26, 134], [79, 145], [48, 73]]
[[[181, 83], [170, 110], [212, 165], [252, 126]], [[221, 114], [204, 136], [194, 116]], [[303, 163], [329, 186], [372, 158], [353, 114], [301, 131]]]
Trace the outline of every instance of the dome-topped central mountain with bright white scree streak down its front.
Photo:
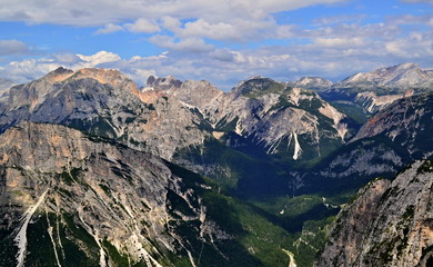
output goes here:
[[329, 148], [323, 144], [335, 148], [349, 136], [345, 116], [315, 92], [262, 77], [242, 81], [215, 99], [205, 116], [215, 129], [293, 160], [320, 157]]

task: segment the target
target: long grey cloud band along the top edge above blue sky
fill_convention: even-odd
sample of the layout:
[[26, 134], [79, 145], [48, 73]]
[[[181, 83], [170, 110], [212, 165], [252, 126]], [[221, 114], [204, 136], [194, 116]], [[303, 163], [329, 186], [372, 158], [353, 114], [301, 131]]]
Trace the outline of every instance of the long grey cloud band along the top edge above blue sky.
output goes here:
[[[6, 21], [57, 23], [70, 26], [105, 26], [147, 18], [158, 20], [164, 16], [177, 19], [203, 18], [211, 23], [231, 18], [263, 19], [270, 13], [293, 10], [320, 3], [345, 0], [3, 0], [0, 18]], [[123, 22], [125, 22], [123, 21]]]

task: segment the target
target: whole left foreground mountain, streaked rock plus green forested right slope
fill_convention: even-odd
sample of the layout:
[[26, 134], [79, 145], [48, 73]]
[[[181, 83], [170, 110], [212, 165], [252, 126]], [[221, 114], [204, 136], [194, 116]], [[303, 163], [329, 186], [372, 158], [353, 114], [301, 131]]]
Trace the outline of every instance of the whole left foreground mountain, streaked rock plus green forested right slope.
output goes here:
[[110, 139], [0, 136], [1, 266], [286, 266], [289, 235], [202, 177]]

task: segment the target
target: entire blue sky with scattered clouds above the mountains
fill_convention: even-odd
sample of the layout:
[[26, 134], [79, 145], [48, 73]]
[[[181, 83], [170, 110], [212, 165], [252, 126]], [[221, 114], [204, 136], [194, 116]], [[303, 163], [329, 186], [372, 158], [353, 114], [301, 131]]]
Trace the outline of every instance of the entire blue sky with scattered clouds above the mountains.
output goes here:
[[0, 0], [0, 78], [17, 83], [62, 66], [229, 90], [402, 62], [433, 68], [433, 0]]

